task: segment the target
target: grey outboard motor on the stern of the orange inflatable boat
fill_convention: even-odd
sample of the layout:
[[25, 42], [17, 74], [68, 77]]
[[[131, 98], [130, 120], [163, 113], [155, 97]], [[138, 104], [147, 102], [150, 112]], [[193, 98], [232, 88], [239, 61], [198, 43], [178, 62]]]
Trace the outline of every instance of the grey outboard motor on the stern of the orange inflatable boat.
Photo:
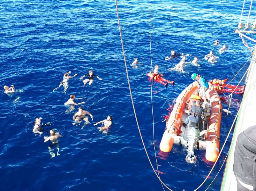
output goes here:
[[187, 125], [187, 133], [184, 135], [184, 140], [187, 140], [187, 151], [188, 155], [186, 156], [187, 163], [195, 163], [196, 156], [194, 155], [194, 145], [199, 139], [200, 131], [196, 126], [196, 123], [190, 122]]

